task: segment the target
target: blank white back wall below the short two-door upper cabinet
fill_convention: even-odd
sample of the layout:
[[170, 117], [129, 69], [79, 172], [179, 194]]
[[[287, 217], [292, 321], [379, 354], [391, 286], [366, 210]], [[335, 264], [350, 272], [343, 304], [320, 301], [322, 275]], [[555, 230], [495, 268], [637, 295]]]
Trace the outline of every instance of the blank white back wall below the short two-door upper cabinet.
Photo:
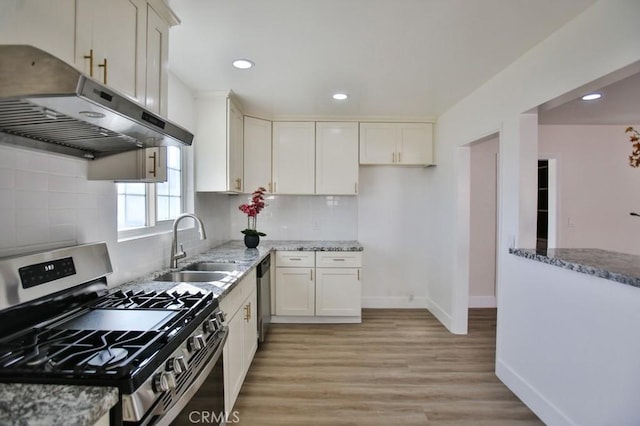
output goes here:
[[424, 197], [433, 167], [360, 167], [358, 240], [364, 246], [362, 305], [424, 308], [432, 244], [429, 217], [440, 206]]

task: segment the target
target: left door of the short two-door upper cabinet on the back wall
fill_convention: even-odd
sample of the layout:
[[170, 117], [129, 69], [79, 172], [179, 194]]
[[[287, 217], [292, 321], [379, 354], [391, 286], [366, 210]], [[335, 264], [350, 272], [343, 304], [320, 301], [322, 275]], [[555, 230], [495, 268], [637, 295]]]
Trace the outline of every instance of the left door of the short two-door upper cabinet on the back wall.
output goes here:
[[360, 123], [360, 164], [394, 164], [395, 123]]

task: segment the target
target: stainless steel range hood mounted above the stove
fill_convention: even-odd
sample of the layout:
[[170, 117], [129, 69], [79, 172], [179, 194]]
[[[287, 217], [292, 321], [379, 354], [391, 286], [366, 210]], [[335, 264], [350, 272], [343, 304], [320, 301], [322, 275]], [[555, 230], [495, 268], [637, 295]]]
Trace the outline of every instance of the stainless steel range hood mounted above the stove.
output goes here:
[[193, 141], [188, 130], [26, 45], [0, 45], [0, 132], [3, 142], [84, 158]]

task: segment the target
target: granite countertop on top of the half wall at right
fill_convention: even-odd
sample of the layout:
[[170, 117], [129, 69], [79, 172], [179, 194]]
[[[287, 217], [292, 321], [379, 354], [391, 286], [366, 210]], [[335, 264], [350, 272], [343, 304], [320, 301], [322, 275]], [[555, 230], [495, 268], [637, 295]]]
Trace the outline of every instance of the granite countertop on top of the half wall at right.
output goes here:
[[510, 253], [583, 274], [640, 287], [640, 256], [601, 249], [510, 249]]

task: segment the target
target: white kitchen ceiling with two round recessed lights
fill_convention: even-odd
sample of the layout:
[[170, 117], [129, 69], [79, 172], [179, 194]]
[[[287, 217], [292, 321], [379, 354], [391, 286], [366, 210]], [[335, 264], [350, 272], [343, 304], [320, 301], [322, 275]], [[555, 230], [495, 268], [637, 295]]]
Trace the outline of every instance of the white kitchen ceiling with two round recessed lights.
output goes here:
[[433, 118], [594, 2], [173, 0], [169, 66], [245, 114]]

